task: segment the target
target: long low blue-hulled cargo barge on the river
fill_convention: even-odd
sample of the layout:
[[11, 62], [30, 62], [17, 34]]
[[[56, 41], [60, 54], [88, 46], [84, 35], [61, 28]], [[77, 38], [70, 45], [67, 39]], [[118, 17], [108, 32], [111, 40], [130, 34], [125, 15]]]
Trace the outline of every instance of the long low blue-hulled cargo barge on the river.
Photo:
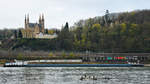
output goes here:
[[12, 64], [4, 67], [144, 67], [144, 64]]

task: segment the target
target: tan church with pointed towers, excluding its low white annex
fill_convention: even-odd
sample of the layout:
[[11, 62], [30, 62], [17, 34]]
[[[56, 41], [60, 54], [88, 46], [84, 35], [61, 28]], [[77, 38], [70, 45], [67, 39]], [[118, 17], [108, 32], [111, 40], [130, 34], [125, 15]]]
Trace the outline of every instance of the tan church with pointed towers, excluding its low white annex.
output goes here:
[[29, 15], [25, 16], [25, 29], [22, 30], [23, 38], [36, 38], [39, 34], [44, 34], [44, 15], [39, 17], [38, 23], [30, 23]]

